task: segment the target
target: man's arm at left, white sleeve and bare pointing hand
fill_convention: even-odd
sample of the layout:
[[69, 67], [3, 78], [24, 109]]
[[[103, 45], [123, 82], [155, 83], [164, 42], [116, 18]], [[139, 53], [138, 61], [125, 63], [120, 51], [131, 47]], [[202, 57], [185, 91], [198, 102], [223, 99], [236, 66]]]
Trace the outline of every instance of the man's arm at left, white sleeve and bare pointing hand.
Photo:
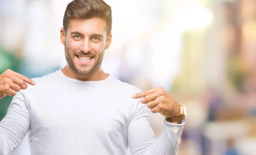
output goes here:
[[28, 87], [26, 83], [35, 85], [33, 80], [10, 69], [0, 75], [0, 99], [6, 95], [16, 95], [7, 115], [0, 122], [0, 155], [9, 155], [29, 131], [29, 105], [23, 90]]

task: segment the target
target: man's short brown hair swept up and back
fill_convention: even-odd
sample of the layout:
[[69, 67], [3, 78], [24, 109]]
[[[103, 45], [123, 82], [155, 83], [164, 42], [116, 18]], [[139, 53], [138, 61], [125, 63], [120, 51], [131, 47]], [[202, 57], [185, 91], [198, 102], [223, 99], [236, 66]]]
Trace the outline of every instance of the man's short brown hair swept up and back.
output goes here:
[[111, 6], [103, 0], [73, 0], [67, 5], [64, 17], [63, 28], [67, 32], [70, 18], [90, 19], [93, 17], [104, 18], [107, 22], [107, 35], [112, 29], [112, 10]]

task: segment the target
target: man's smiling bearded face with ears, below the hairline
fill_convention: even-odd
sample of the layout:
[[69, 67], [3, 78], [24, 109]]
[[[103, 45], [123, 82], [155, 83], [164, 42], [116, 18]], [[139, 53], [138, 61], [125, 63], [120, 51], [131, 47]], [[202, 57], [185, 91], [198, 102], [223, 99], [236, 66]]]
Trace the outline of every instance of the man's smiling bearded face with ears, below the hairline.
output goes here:
[[106, 20], [101, 18], [70, 19], [67, 33], [61, 29], [68, 65], [80, 75], [89, 75], [101, 66], [105, 49], [111, 43], [107, 38]]

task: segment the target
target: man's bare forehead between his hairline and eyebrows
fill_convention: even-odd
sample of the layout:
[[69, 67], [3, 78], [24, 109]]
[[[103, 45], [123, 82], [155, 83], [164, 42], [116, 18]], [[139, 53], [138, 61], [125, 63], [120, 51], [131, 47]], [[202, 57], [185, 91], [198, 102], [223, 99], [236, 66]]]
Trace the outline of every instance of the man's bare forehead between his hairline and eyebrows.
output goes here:
[[90, 18], [90, 19], [76, 19], [71, 18], [69, 21], [69, 27], [67, 33], [80, 32], [84, 35], [90, 34], [105, 34], [107, 22], [102, 18]]

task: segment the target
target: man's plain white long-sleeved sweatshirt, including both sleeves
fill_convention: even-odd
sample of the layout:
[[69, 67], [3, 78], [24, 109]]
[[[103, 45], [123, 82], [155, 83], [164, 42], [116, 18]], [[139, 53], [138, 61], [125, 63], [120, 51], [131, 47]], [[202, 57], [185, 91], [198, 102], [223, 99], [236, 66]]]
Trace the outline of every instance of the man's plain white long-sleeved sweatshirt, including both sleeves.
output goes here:
[[111, 75], [80, 81], [61, 70], [34, 78], [17, 92], [0, 122], [0, 155], [9, 155], [29, 133], [31, 155], [176, 155], [182, 124], [164, 120], [157, 139], [140, 92]]

